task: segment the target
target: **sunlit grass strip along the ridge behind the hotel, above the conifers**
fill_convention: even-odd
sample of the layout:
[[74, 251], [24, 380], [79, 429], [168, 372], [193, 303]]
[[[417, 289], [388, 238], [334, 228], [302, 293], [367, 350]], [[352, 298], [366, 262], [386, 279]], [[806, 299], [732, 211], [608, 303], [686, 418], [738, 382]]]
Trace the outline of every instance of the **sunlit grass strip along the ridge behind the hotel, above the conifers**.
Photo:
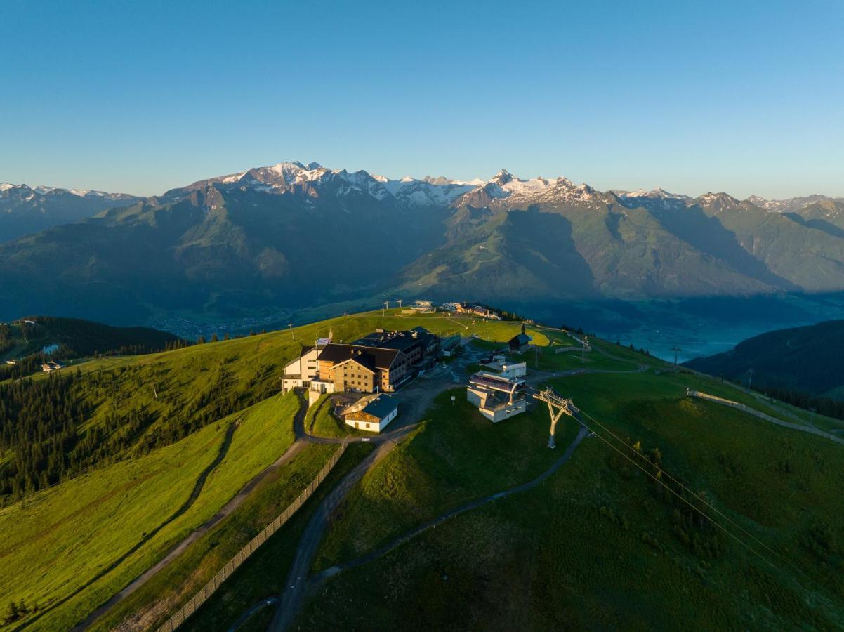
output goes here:
[[[344, 322], [345, 321], [345, 322]], [[78, 365], [84, 374], [107, 373], [106, 384], [89, 386], [83, 397], [95, 409], [89, 425], [100, 424], [109, 414], [125, 414], [133, 408], [151, 413], [156, 423], [147, 430], [147, 438], [170, 419], [185, 410], [197, 409], [204, 400], [225, 394], [245, 406], [278, 390], [284, 364], [299, 354], [303, 345], [333, 332], [335, 341], [351, 342], [374, 331], [426, 327], [448, 336], [455, 333], [478, 333], [487, 340], [506, 342], [516, 335], [516, 322], [476, 321], [466, 316], [415, 315], [402, 316], [397, 311], [365, 312], [289, 330], [237, 338], [218, 343], [198, 344], [160, 354], [91, 359]], [[528, 328], [540, 344], [549, 338]], [[76, 370], [76, 367], [73, 368]], [[45, 379], [46, 374], [30, 379]]]

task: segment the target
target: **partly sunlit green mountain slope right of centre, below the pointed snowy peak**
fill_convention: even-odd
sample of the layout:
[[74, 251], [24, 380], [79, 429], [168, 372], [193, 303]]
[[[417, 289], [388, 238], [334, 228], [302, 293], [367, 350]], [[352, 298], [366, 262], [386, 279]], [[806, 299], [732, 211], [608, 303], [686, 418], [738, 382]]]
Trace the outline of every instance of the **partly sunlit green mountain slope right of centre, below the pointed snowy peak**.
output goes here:
[[[405, 291], [486, 300], [598, 296], [756, 294], [779, 289], [763, 263], [753, 271], [701, 250], [646, 208], [607, 198], [594, 208], [539, 203], [461, 208], [445, 246], [402, 272]], [[450, 236], [451, 236], [450, 235]], [[844, 243], [844, 242], [842, 242]], [[753, 259], [745, 253], [745, 257]]]

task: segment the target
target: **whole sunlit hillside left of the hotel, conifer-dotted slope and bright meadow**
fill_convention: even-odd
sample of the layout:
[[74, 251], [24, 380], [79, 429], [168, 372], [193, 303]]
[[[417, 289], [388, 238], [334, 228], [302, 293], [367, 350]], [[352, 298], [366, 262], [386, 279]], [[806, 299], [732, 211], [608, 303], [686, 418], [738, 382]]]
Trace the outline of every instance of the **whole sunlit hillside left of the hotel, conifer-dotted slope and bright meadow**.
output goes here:
[[[21, 450], [0, 452], [0, 466], [13, 468], [14, 473], [19, 453], [34, 455], [39, 446], [55, 445], [77, 468], [66, 467], [58, 481], [43, 481], [41, 491], [40, 481], [35, 479], [34, 484], [18, 490], [23, 501], [14, 502], [15, 494], [7, 494], [7, 502], [12, 504], [0, 513], [0, 528], [12, 535], [6, 550], [0, 551], [6, 573], [0, 575], [3, 598], [23, 599], [30, 610], [27, 617], [73, 624], [154, 563], [171, 543], [213, 515], [236, 489], [289, 445], [290, 419], [298, 404], [293, 397], [279, 400], [274, 395], [281, 372], [302, 344], [326, 335], [329, 329], [338, 340], [358, 338], [376, 327], [423, 325], [443, 334], [461, 332], [500, 340], [518, 331], [516, 323], [473, 324], [468, 318], [443, 316], [406, 318], [394, 311], [384, 317], [374, 312], [345, 320], [340, 317], [294, 332], [160, 354], [89, 359], [65, 375], [35, 375], [7, 384], [14, 392], [23, 393], [21, 401], [27, 402], [27, 409], [33, 414], [40, 410], [47, 424], [38, 427], [41, 441], [33, 441], [31, 435], [9, 435], [8, 440], [17, 440], [15, 445]], [[537, 338], [544, 339], [538, 332]], [[46, 399], [57, 404], [45, 408]], [[0, 408], [6, 403], [4, 399]], [[12, 428], [20, 419], [19, 411], [7, 408], [6, 413]], [[57, 424], [65, 422], [62, 435], [51, 435]], [[240, 422], [236, 429], [234, 422]], [[225, 458], [214, 465], [229, 432]], [[66, 440], [68, 437], [72, 439]], [[289, 478], [293, 470], [279, 478], [277, 487], [285, 491], [273, 494], [275, 504], [268, 503], [256, 513], [250, 528], [262, 528], [262, 516], [298, 493], [298, 489], [295, 493], [289, 489], [307, 478], [308, 463], [320, 467], [326, 451], [330, 450], [315, 449], [303, 457], [300, 478]], [[197, 478], [212, 465], [214, 470], [189, 509], [162, 526], [187, 502]], [[236, 527], [238, 522], [231, 524], [235, 527], [226, 527], [230, 532], [220, 536], [226, 547], [209, 545], [215, 540], [197, 544], [199, 548], [192, 549], [190, 558], [197, 565], [182, 565], [179, 572], [194, 581], [202, 576], [195, 573], [197, 566], [213, 574], [219, 560], [231, 547], [236, 550], [239, 537], [247, 532], [242, 525]], [[33, 537], [34, 533], [38, 537]], [[111, 564], [116, 568], [110, 570]], [[27, 580], [19, 581], [20, 575]], [[175, 592], [171, 597], [181, 597], [180, 591], [189, 591], [192, 584], [185, 586], [172, 586]], [[141, 604], [155, 608], [157, 601], [150, 591], [154, 589], [139, 593], [134, 597], [139, 601], [133, 603], [138, 608]], [[0, 608], [5, 607], [6, 603], [0, 603]], [[50, 609], [48, 613], [44, 613], [46, 609]]]

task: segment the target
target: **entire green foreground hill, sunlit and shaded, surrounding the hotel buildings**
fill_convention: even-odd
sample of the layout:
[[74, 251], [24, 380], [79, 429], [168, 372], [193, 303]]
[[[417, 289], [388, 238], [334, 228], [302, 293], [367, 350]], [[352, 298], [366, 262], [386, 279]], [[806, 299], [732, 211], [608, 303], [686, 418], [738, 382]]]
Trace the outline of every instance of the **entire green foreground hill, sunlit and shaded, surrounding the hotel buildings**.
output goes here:
[[[24, 491], [22, 500], [8, 499], [0, 510], [7, 534], [0, 592], [16, 603], [23, 599], [25, 606], [17, 606], [18, 618], [8, 625], [36, 620], [67, 628], [82, 620], [278, 458], [292, 440], [298, 406], [293, 396], [278, 397], [280, 371], [302, 344], [329, 329], [335, 339], [350, 340], [376, 327], [417, 325], [442, 335], [477, 335], [486, 339], [477, 343], [484, 349], [496, 344], [487, 341], [506, 341], [520, 327], [473, 323], [463, 316], [371, 312], [292, 332], [95, 359], [80, 364], [73, 377], [59, 373], [16, 383], [30, 389], [67, 383], [62, 401], [75, 407], [77, 438], [62, 438], [62, 445], [70, 457], [83, 456], [88, 447], [96, 457], [88, 473], [68, 471], [57, 484]], [[662, 471], [663, 479], [670, 475], [701, 494], [744, 529], [735, 533], [761, 557], [722, 532], [717, 515], [701, 518], [672, 500], [668, 489], [593, 437], [535, 487], [491, 500], [384, 556], [366, 559], [442, 512], [527, 483], [555, 462], [576, 434], [571, 421], [561, 422], [558, 450], [549, 451], [547, 411], [541, 406], [489, 424], [464, 401], [463, 377], [446, 371], [441, 385], [452, 387], [456, 378], [457, 390], [442, 393], [419, 428], [365, 475], [333, 515], [315, 570], [340, 564], [341, 572], [321, 587], [319, 608], [306, 604], [301, 610], [301, 624], [319, 628], [331, 618], [334, 627], [354, 629], [364, 624], [363, 613], [370, 613], [366, 621], [379, 627], [413, 613], [421, 627], [446, 619], [452, 627], [492, 629], [511, 628], [516, 621], [523, 629], [677, 627], [713, 620], [746, 628], [840, 626], [844, 557], [838, 543], [844, 527], [829, 489], [844, 483], [841, 446], [689, 400], [685, 392], [728, 397], [772, 415], [787, 410], [827, 429], [844, 424], [768, 407], [716, 379], [675, 373], [660, 360], [600, 340], [591, 341], [594, 349], [583, 359], [551, 353], [549, 345], [571, 346], [571, 340], [559, 330], [528, 326], [527, 332], [543, 349], [531, 363], [538, 360], [544, 371], [540, 383], [574, 397], [603, 424], [604, 429], [596, 427], [599, 435], [613, 440], [609, 430], [619, 437], [614, 440], [619, 450], [644, 455], [646, 471]], [[609, 372], [582, 374], [582, 369]], [[440, 384], [436, 379], [420, 378], [418, 386], [428, 380]], [[143, 417], [149, 423], [138, 425], [133, 411], [149, 415]], [[48, 419], [64, 419], [64, 413], [53, 406]], [[41, 435], [46, 440], [57, 438], [48, 426], [38, 432], [46, 433]], [[19, 444], [24, 452], [37, 445]], [[274, 482], [259, 485], [241, 509], [109, 613], [102, 627], [160, 624], [306, 487], [330, 454], [322, 448], [309, 446], [280, 467]], [[4, 446], [4, 458], [11, 452]], [[349, 455], [343, 472], [365, 451]], [[203, 472], [206, 479], [195, 494]], [[314, 502], [340, 478], [327, 480]], [[316, 506], [303, 506], [187, 628], [228, 628], [256, 604], [267, 607], [267, 596], [284, 590], [296, 543]], [[779, 557], [769, 563], [767, 549], [747, 534]], [[360, 565], [345, 568], [355, 560]], [[24, 567], [45, 570], [28, 572], [23, 580]], [[361, 591], [363, 585], [369, 588]], [[505, 587], [508, 597], [501, 599]], [[272, 607], [256, 612], [250, 625], [272, 615]]]

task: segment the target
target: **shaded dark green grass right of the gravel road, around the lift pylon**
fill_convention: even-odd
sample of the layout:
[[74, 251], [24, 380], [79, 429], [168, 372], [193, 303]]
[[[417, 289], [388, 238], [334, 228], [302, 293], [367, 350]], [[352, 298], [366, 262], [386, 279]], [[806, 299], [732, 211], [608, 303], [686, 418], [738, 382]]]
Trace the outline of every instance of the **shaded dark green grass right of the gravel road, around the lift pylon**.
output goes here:
[[[344, 570], [306, 603], [295, 626], [387, 629], [838, 629], [844, 625], [844, 451], [711, 402], [687, 399], [716, 380], [684, 373], [586, 374], [557, 391], [703, 494], [776, 554], [730, 526], [750, 552], [602, 440], [530, 491], [446, 521], [380, 559]], [[750, 396], [748, 396], [750, 397]], [[738, 399], [738, 397], [732, 397]], [[541, 445], [547, 412], [463, 443], [472, 418], [440, 406], [402, 450], [354, 490], [318, 562], [368, 553], [443, 507], [483, 494], [514, 469], [502, 445]], [[436, 421], [439, 419], [439, 421]], [[610, 439], [601, 429], [598, 432]], [[565, 440], [559, 440], [560, 446]], [[448, 446], [463, 446], [463, 452]], [[616, 443], [620, 447], [620, 444]], [[626, 450], [626, 448], [624, 448]], [[447, 457], [459, 455], [458, 458]], [[525, 456], [527, 458], [527, 456]], [[486, 467], [479, 462], [485, 459]], [[515, 478], [515, 477], [514, 477]], [[527, 478], [527, 477], [526, 477]], [[354, 500], [352, 500], [354, 499]], [[772, 563], [770, 564], [769, 561]]]

